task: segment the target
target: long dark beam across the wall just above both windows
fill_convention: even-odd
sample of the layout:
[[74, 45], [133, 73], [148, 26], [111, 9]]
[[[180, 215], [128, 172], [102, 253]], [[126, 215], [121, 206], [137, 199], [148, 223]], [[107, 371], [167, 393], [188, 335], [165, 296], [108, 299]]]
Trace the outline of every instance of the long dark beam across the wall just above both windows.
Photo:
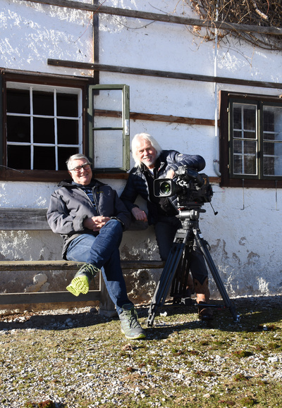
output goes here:
[[175, 73], [172, 71], [162, 71], [162, 70], [149, 70], [144, 68], [130, 68], [123, 66], [110, 66], [98, 63], [82, 63], [76, 61], [63, 61], [59, 59], [47, 59], [47, 64], [51, 66], [64, 66], [68, 68], [80, 68], [87, 70], [99, 70], [111, 73], [123, 73], [127, 75], [145, 75], [157, 78], [169, 78], [177, 80], [190, 80], [190, 81], [200, 81], [200, 82], [216, 82], [221, 84], [231, 84], [231, 85], [243, 85], [248, 87], [263, 87], [263, 88], [276, 88], [281, 89], [281, 82], [265, 82], [265, 81], [253, 81], [253, 80], [240, 80], [237, 78], [223, 78], [214, 77], [209, 75], [197, 75], [189, 73]]

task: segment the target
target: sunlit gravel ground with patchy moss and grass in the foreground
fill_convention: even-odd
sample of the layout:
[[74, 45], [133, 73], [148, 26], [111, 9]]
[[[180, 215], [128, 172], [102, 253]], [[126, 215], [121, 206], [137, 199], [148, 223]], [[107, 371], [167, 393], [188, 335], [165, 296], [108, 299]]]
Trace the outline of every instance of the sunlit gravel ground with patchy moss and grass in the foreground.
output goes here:
[[207, 324], [168, 304], [153, 328], [140, 306], [147, 340], [126, 340], [90, 307], [1, 316], [0, 407], [244, 407], [226, 396], [234, 378], [282, 392], [281, 299], [233, 299], [239, 323], [226, 309]]

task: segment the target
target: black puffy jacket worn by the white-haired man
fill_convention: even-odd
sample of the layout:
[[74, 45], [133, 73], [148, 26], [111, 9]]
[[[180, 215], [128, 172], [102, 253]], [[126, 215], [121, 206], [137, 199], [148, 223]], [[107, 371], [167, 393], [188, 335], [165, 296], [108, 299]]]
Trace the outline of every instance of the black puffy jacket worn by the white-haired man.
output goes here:
[[[169, 170], [176, 171], [180, 166], [189, 166], [192, 170], [202, 171], [206, 165], [204, 158], [197, 154], [181, 154], [176, 150], [163, 150], [157, 159], [157, 169], [155, 178], [166, 178]], [[157, 222], [157, 205], [152, 202], [149, 194], [149, 186], [145, 177], [145, 166], [133, 167], [129, 173], [128, 182], [121, 194], [121, 199], [124, 202], [128, 211], [131, 212], [133, 207], [137, 206], [135, 200], [140, 195], [147, 202], [148, 221], [149, 224]], [[176, 197], [171, 197], [171, 201], [175, 202]]]

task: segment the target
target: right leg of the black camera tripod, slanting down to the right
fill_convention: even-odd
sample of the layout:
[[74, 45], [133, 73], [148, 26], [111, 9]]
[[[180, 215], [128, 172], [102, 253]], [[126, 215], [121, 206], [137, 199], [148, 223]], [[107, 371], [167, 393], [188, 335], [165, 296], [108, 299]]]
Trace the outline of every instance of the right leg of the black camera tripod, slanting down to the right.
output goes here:
[[239, 316], [236, 312], [235, 306], [231, 303], [231, 300], [226, 292], [226, 289], [223, 286], [221, 277], [219, 276], [219, 272], [216, 269], [216, 266], [214, 265], [214, 261], [212, 260], [212, 256], [209, 253], [209, 249], [207, 249], [207, 244], [202, 238], [202, 233], [200, 230], [193, 228], [193, 233], [195, 235], [195, 239], [197, 242], [197, 246], [201, 249], [202, 254], [204, 255], [204, 259], [206, 259], [207, 264], [209, 266], [209, 270], [212, 273], [212, 276], [214, 278], [214, 282], [216, 283], [217, 288], [219, 289], [219, 292], [221, 294], [221, 297], [223, 299], [224, 304], [228, 309], [231, 311], [231, 314], [233, 316], [234, 321], [238, 321]]

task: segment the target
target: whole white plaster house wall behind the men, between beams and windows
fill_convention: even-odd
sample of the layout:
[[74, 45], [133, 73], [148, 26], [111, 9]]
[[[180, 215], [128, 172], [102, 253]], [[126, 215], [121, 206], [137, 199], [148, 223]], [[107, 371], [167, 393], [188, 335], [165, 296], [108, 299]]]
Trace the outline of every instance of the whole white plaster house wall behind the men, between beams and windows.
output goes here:
[[[108, 0], [105, 6], [197, 17], [182, 1]], [[42, 73], [91, 75], [87, 70], [47, 66], [47, 58], [92, 62], [90, 18], [90, 13], [85, 11], [0, 0], [0, 66]], [[100, 63], [200, 75], [216, 72], [223, 77], [282, 82], [281, 53], [262, 52], [243, 42], [238, 47], [230, 39], [229, 47], [224, 44], [219, 47], [214, 66], [213, 44], [201, 44], [200, 39], [183, 25], [106, 15], [99, 15], [99, 21]], [[282, 94], [281, 89], [221, 84], [216, 85], [215, 93], [212, 83], [116, 73], [101, 73], [100, 82], [130, 85], [130, 110], [133, 112], [205, 119], [214, 119], [220, 89]], [[214, 128], [131, 120], [131, 137], [142, 131], [152, 133], [164, 149], [202, 154], [207, 162], [205, 173], [216, 175], [213, 160], [219, 158], [219, 144]], [[109, 180], [118, 193], [123, 190], [124, 183], [123, 180]], [[0, 182], [0, 206], [47, 208], [55, 187], [53, 183]], [[223, 190], [214, 186], [212, 204], [219, 214], [214, 216], [211, 206], [205, 204], [207, 213], [201, 216], [200, 228], [211, 245], [214, 262], [231, 295], [281, 293], [281, 201], [281, 190]], [[144, 203], [140, 205], [144, 207]], [[61, 237], [51, 231], [1, 232], [0, 248], [1, 259], [59, 259]], [[153, 228], [126, 232], [121, 254], [132, 259], [148, 256], [158, 259]], [[137, 271], [133, 278], [129, 273], [126, 275], [130, 293], [136, 295], [137, 285], [142, 283], [149, 297], [152, 285], [148, 288], [148, 280], [157, 279], [159, 271], [153, 271], [147, 278], [142, 276], [143, 280], [140, 276], [142, 271]], [[212, 279], [211, 285], [216, 292]]]

